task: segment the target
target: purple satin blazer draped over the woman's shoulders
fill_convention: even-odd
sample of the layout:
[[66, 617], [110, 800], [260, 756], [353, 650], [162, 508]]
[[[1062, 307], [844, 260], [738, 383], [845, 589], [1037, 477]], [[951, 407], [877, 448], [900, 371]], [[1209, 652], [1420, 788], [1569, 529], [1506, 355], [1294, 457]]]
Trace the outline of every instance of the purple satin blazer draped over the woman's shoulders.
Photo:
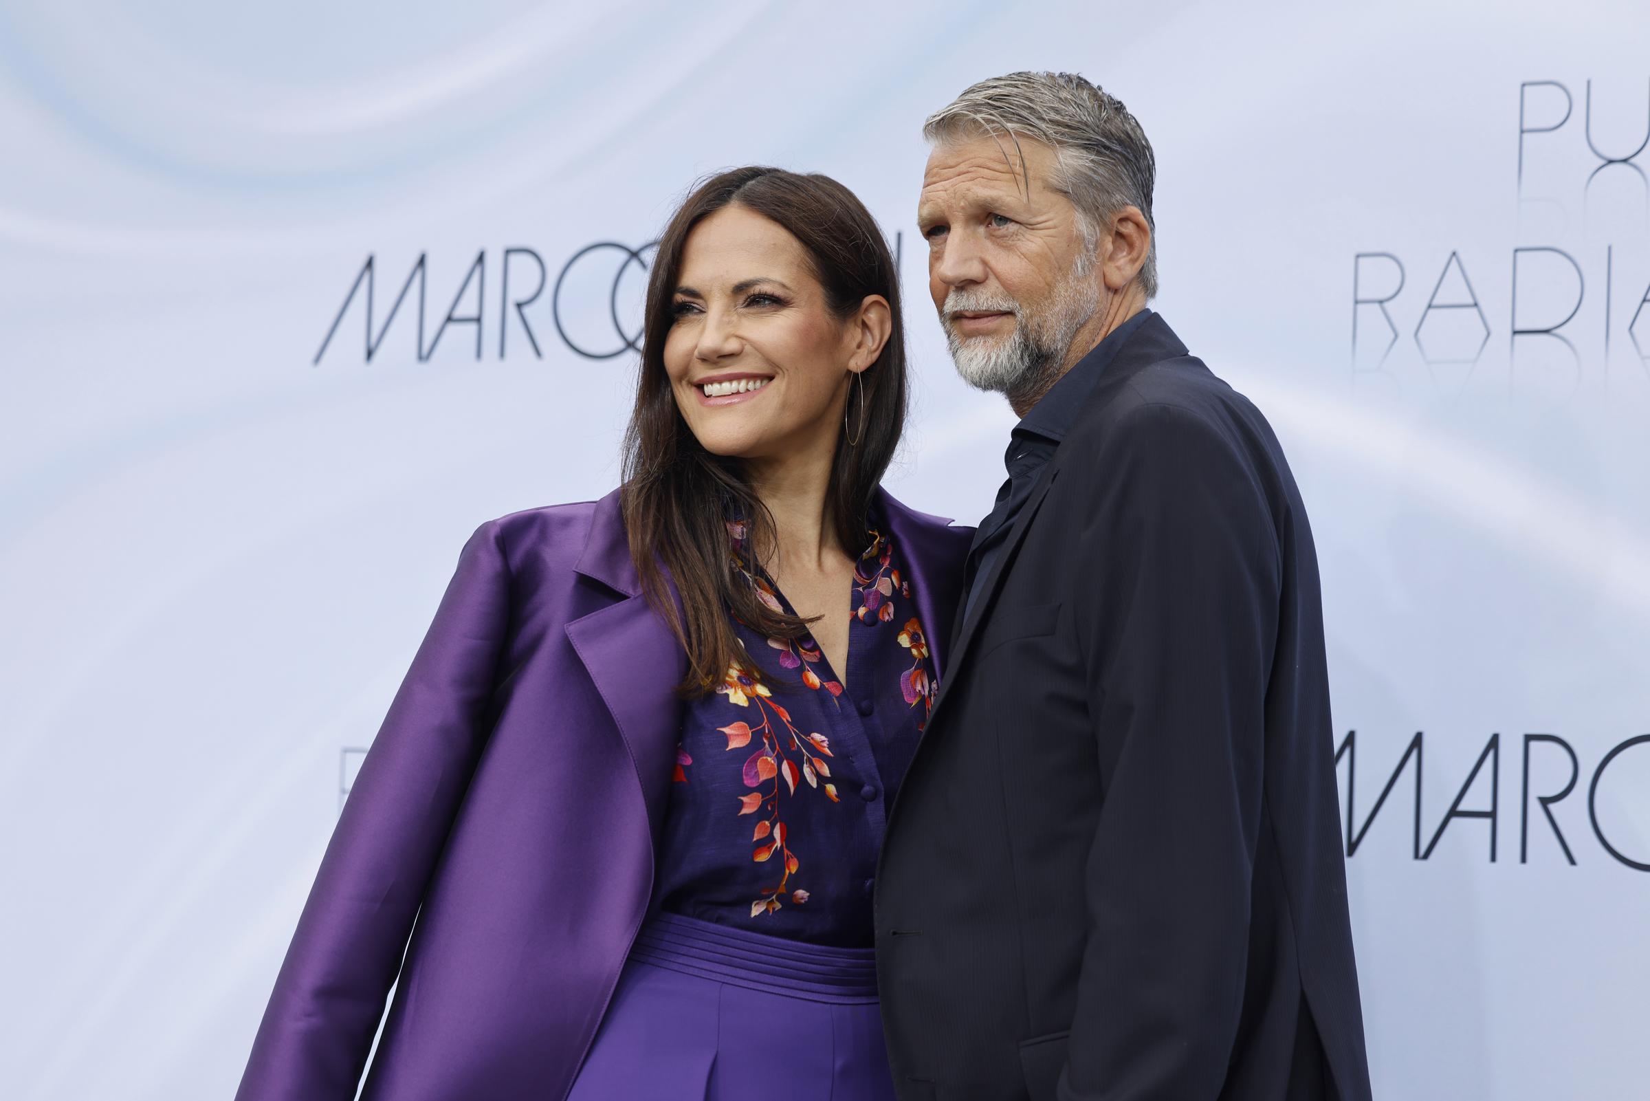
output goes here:
[[[944, 675], [972, 528], [878, 492]], [[396, 982], [365, 1101], [566, 1096], [652, 895], [681, 723], [686, 659], [640, 593], [617, 492], [470, 536], [238, 1101], [351, 1101]]]

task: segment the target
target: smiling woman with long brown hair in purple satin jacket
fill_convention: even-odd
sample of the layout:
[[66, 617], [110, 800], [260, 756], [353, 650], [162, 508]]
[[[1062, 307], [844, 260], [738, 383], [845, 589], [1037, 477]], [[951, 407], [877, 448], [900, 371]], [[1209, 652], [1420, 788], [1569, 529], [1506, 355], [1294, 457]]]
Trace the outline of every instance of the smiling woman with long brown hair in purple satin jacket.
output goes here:
[[893, 1096], [873, 875], [969, 543], [878, 487], [904, 408], [853, 193], [695, 190], [624, 485], [465, 545], [241, 1101], [353, 1096], [391, 984], [368, 1101]]

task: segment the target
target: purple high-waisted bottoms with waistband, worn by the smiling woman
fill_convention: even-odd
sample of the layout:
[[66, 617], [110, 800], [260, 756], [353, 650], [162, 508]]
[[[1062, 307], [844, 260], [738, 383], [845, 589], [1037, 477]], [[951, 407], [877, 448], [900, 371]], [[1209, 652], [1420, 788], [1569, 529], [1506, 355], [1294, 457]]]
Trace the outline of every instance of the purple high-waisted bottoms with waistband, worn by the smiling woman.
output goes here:
[[894, 1101], [870, 947], [655, 914], [568, 1101]]

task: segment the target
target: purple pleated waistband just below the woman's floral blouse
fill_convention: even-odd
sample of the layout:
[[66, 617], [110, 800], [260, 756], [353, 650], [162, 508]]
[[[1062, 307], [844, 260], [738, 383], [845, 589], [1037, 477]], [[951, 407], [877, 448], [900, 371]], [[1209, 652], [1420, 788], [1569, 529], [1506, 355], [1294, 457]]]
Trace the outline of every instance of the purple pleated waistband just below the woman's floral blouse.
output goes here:
[[876, 1000], [874, 949], [807, 944], [681, 914], [652, 914], [630, 959], [810, 1002]]

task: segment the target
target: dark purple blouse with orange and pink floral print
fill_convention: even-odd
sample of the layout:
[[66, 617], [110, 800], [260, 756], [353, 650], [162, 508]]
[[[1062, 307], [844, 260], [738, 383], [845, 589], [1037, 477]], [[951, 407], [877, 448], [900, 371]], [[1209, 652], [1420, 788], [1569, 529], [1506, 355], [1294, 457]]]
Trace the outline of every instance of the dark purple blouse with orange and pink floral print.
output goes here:
[[[757, 933], [865, 947], [888, 807], [939, 685], [911, 581], [886, 525], [855, 566], [846, 682], [812, 637], [766, 639], [734, 619], [747, 667], [685, 710], [653, 905]], [[784, 594], [746, 556], [771, 607]]]

